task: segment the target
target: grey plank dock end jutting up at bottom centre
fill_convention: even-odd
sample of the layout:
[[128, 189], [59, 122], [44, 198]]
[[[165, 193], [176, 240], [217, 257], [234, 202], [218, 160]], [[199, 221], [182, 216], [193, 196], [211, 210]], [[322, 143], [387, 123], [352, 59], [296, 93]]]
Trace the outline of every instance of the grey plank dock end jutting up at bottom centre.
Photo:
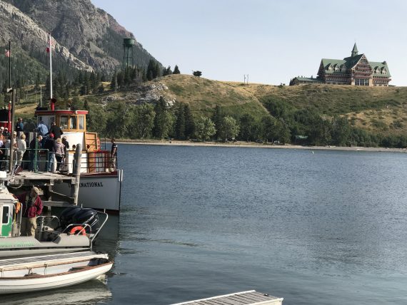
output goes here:
[[223, 296], [213, 296], [208, 299], [187, 301], [172, 305], [282, 305], [283, 298], [262, 294], [256, 290], [236, 292], [235, 294], [225, 294]]

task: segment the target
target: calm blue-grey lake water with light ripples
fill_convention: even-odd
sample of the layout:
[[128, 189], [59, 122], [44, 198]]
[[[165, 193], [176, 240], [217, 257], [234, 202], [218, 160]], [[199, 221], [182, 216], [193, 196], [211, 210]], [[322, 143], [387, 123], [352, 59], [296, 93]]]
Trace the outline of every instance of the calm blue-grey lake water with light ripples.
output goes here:
[[[106, 283], [9, 304], [171, 304], [256, 289], [292, 304], [407, 304], [407, 155], [119, 145]], [[4, 302], [2, 301], [2, 303]], [[4, 303], [4, 304], [6, 304]]]

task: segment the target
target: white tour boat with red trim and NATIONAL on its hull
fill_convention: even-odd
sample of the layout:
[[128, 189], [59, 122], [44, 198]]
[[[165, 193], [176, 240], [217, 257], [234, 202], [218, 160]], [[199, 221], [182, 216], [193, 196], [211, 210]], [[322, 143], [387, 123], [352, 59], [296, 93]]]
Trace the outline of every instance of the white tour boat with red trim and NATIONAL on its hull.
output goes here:
[[[91, 207], [107, 212], [119, 212], [121, 182], [123, 170], [117, 167], [116, 157], [112, 158], [110, 150], [101, 148], [101, 141], [97, 133], [86, 131], [86, 110], [39, 108], [35, 115], [38, 122], [50, 126], [55, 122], [61, 130], [70, 148], [65, 158], [65, 165], [61, 172], [74, 172], [74, 153], [76, 145], [81, 144], [81, 177], [79, 184], [78, 202], [84, 207]], [[45, 162], [40, 164], [40, 170], [45, 169]], [[71, 195], [71, 185], [59, 183], [53, 187], [55, 192]]]

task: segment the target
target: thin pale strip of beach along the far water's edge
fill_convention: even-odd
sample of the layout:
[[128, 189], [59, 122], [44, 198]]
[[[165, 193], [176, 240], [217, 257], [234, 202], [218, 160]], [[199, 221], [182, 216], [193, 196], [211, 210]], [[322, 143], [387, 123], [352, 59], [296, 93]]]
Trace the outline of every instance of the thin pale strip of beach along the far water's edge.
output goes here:
[[[106, 140], [107, 142], [107, 140]], [[118, 144], [136, 144], [136, 145], [171, 145], [171, 146], [201, 146], [201, 147], [226, 147], [226, 148], [272, 148], [272, 149], [298, 149], [298, 150], [343, 150], [343, 151], [367, 151], [367, 152], [387, 152], [387, 153], [407, 153], [406, 148], [364, 148], [359, 146], [303, 146], [303, 145], [276, 145], [276, 144], [258, 144], [247, 142], [191, 142], [181, 140], [116, 140]]]

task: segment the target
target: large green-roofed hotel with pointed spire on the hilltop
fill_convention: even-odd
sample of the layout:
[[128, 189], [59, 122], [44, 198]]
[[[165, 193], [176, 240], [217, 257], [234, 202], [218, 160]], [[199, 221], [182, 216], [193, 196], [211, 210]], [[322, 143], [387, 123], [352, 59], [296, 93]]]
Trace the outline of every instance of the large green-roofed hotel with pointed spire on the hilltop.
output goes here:
[[291, 79], [290, 86], [309, 83], [351, 86], [388, 86], [391, 81], [386, 61], [368, 61], [365, 54], [358, 54], [356, 43], [351, 56], [343, 59], [322, 58], [316, 78], [297, 76]]

